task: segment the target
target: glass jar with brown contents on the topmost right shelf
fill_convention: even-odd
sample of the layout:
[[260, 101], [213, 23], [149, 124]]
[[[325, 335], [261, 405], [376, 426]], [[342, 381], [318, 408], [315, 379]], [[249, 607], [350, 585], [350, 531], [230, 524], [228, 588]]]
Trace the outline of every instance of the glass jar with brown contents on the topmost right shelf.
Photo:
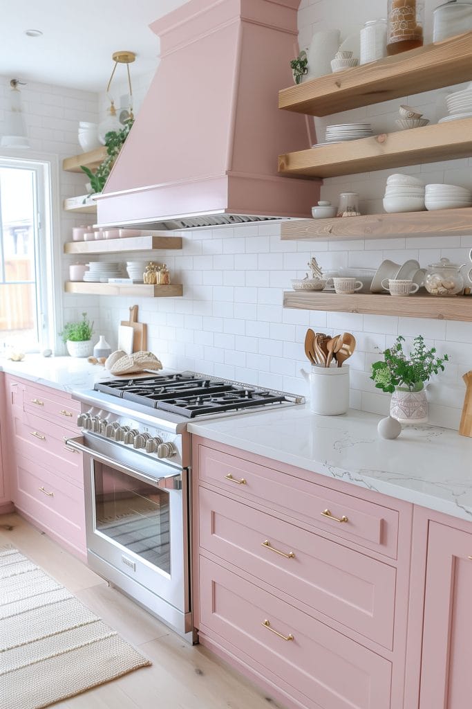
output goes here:
[[417, 0], [388, 0], [387, 55], [423, 45], [423, 4]]

